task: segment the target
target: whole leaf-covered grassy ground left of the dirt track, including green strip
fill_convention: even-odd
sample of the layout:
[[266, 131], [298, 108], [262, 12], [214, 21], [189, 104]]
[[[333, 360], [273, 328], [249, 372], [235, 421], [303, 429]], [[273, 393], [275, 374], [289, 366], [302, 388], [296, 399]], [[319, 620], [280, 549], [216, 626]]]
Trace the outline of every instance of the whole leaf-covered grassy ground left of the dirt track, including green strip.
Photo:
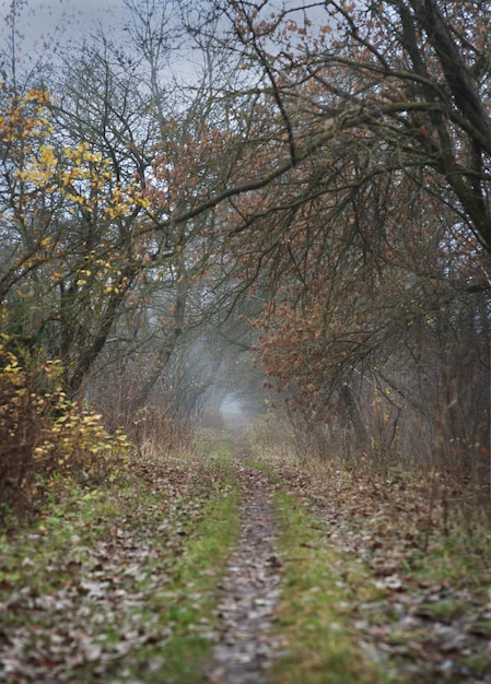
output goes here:
[[73, 488], [0, 541], [0, 679], [202, 681], [238, 531], [227, 445]]

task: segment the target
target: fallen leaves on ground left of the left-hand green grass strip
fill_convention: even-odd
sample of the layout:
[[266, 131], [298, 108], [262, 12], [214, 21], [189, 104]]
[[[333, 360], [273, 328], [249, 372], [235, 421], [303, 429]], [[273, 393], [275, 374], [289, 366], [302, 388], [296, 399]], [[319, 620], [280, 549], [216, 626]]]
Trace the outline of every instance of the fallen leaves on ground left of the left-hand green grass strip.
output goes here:
[[109, 682], [132, 651], [162, 657], [174, 630], [162, 613], [185, 592], [199, 602], [168, 586], [223, 473], [177, 459], [135, 469], [121, 491], [87, 492], [0, 543], [1, 681]]

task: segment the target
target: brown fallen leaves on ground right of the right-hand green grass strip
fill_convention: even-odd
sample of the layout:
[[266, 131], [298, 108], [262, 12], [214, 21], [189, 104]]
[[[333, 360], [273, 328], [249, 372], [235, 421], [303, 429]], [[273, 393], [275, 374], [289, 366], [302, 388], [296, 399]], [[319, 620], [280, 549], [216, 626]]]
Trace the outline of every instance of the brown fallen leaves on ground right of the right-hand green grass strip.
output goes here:
[[283, 485], [301, 497], [327, 544], [369, 568], [378, 590], [340, 606], [353, 639], [419, 684], [491, 682], [491, 533], [460, 515], [448, 521], [445, 498], [406, 477], [383, 477], [280, 464]]

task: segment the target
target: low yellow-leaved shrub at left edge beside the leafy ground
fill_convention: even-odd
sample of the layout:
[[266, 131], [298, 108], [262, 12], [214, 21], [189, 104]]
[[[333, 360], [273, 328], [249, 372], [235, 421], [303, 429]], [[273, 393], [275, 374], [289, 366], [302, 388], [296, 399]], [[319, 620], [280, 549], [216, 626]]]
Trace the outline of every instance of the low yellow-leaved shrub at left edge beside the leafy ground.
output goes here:
[[32, 514], [56, 480], [110, 477], [129, 443], [70, 401], [63, 368], [0, 339], [0, 522]]

